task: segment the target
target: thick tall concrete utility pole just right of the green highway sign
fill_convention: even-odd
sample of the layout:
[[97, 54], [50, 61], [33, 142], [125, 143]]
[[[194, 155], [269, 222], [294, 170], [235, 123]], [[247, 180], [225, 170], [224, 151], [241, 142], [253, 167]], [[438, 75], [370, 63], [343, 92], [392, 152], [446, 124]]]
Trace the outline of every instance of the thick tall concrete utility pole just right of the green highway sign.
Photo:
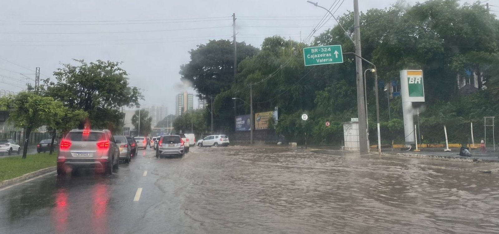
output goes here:
[[355, 22], [355, 65], [357, 70], [357, 113], [359, 117], [359, 149], [360, 154], [367, 154], [367, 123], [364, 103], [364, 80], [362, 77], [362, 50], [360, 47], [360, 22], [359, 22], [359, 0], [353, 0], [354, 22]]

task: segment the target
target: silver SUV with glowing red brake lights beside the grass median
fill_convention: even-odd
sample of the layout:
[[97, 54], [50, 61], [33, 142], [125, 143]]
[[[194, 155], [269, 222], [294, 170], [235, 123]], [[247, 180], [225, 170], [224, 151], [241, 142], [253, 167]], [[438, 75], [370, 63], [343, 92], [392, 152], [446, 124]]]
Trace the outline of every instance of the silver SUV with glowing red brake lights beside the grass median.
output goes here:
[[73, 129], [60, 141], [57, 175], [68, 168], [95, 168], [112, 174], [119, 167], [120, 151], [109, 130]]

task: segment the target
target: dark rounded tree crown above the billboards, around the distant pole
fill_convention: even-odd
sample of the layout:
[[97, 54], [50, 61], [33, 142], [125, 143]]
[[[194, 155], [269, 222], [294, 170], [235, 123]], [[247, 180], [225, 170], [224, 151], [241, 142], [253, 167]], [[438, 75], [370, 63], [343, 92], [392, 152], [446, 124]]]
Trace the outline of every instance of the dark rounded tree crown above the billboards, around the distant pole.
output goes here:
[[[238, 42], [237, 48], [238, 64], [258, 52], [257, 48], [245, 42]], [[179, 73], [181, 79], [191, 82], [202, 96], [216, 96], [237, 82], [234, 77], [234, 45], [230, 40], [211, 40], [189, 53], [191, 61], [182, 65]]]

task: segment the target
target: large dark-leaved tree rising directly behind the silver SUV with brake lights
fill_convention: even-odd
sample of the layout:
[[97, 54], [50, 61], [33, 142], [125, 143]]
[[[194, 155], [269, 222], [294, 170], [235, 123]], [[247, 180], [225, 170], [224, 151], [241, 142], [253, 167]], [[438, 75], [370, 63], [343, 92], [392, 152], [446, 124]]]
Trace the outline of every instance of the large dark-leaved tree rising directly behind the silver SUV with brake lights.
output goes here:
[[[45, 80], [40, 92], [71, 110], [87, 112], [94, 128], [118, 127], [121, 108], [138, 107], [139, 100], [143, 99], [139, 89], [129, 86], [127, 72], [119, 67], [120, 62], [74, 61], [79, 65], [62, 64], [62, 68], [53, 73], [56, 82]], [[80, 122], [79, 127], [82, 126]]]

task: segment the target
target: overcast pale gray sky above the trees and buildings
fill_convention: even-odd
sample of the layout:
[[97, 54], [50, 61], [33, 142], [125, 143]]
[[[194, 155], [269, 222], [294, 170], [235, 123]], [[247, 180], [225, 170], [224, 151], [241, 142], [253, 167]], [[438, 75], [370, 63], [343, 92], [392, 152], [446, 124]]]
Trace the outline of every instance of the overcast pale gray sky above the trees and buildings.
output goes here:
[[[353, 10], [352, 0], [314, 1], [327, 8], [334, 3], [335, 15]], [[359, 5], [365, 11], [395, 1]], [[301, 31], [305, 37], [325, 11], [306, 0], [3, 0], [0, 89], [20, 91], [26, 82], [34, 84], [35, 67], [45, 79], [72, 58], [122, 61], [131, 85], [143, 90], [142, 104], [165, 105], [174, 114], [175, 95], [183, 89], [179, 67], [189, 62], [188, 51], [208, 39], [231, 39], [232, 13], [238, 41], [259, 47], [275, 34], [299, 40]], [[334, 24], [330, 19], [315, 35]]]

